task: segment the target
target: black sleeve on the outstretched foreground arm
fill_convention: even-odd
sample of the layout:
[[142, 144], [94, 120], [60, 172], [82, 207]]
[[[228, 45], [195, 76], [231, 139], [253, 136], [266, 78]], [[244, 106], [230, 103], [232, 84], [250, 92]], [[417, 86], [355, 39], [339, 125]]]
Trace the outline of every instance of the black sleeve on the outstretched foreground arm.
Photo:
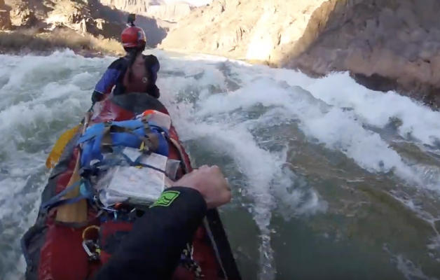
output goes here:
[[168, 206], [165, 203], [146, 211], [94, 280], [172, 279], [182, 251], [205, 218], [207, 205], [197, 190], [166, 190], [170, 191], [178, 196]]

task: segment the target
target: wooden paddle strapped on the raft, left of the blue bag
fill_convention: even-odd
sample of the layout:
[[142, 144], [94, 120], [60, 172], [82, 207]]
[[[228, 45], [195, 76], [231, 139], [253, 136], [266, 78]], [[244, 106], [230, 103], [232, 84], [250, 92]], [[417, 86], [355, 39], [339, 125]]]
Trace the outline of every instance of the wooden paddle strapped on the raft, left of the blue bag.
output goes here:
[[[90, 120], [91, 113], [88, 112], [87, 116], [85, 116], [85, 121], [83, 125], [83, 133], [85, 132], [85, 129], [88, 126], [88, 122]], [[79, 175], [79, 169], [81, 162], [81, 152], [78, 155], [78, 159], [76, 160], [76, 165], [74, 169], [74, 173], [70, 177], [69, 183], [67, 186], [71, 186], [74, 183], [81, 180], [81, 176]], [[74, 188], [71, 190], [71, 192], [67, 193], [67, 195], [64, 195], [65, 198], [72, 198], [77, 197], [80, 195], [79, 191], [80, 186]], [[79, 202], [76, 202], [75, 204], [64, 204], [57, 209], [57, 216], [55, 218], [56, 221], [63, 222], [63, 223], [83, 223], [88, 220], [88, 214], [87, 214], [87, 201], [86, 200], [80, 200]]]

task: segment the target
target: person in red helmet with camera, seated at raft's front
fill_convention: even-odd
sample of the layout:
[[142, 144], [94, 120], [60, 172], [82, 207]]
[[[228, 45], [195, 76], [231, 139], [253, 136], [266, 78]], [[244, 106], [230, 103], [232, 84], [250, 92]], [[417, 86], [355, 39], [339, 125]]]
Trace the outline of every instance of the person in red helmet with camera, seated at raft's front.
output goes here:
[[142, 28], [134, 24], [135, 16], [130, 15], [130, 27], [121, 35], [123, 48], [127, 55], [116, 59], [104, 72], [92, 93], [92, 104], [102, 101], [113, 90], [114, 95], [128, 92], [145, 92], [159, 98], [156, 86], [160, 64], [154, 55], [143, 55], [146, 35]]

